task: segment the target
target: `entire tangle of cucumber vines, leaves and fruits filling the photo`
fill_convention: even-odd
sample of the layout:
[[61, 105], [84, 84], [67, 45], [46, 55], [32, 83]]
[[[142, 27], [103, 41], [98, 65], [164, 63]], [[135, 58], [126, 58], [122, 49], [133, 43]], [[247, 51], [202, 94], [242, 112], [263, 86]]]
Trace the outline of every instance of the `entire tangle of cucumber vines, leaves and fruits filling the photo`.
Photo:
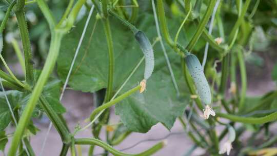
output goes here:
[[[192, 150], [276, 154], [276, 136], [261, 141], [258, 134], [273, 134], [277, 91], [249, 97], [246, 66], [275, 42], [276, 8], [271, 0], [1, 1], [0, 150], [9, 156], [38, 154], [30, 143], [39, 133], [33, 119], [45, 114], [48, 129], [53, 125], [61, 138], [55, 155], [69, 149], [81, 155], [81, 145], [89, 145], [88, 155], [97, 155], [95, 146], [105, 150], [99, 155], [167, 155], [162, 140], [135, 154], [114, 146], [157, 123], [170, 130], [176, 120]], [[11, 68], [13, 55], [21, 72]], [[273, 81], [276, 75], [274, 68]], [[96, 99], [89, 123], [80, 121], [74, 131], [63, 115], [65, 90], [91, 92]], [[112, 106], [120, 116], [116, 124], [110, 123]], [[106, 139], [100, 136], [104, 128]], [[93, 137], [76, 135], [86, 129]], [[43, 149], [39, 155], [46, 154]], [[184, 153], [194, 154], [187, 148]]]

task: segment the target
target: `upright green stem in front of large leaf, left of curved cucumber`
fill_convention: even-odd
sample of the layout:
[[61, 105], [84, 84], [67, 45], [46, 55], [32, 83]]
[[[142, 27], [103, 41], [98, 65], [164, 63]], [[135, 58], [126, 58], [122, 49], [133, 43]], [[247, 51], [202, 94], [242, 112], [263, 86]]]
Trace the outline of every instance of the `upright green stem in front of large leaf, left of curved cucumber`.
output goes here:
[[113, 58], [113, 44], [112, 44], [112, 35], [111, 35], [109, 18], [107, 17], [103, 19], [102, 22], [103, 22], [104, 30], [106, 34], [106, 40], [108, 44], [108, 55], [109, 55], [108, 86], [107, 86], [106, 96], [104, 100], [104, 103], [106, 103], [111, 99], [111, 96], [112, 96], [114, 58]]

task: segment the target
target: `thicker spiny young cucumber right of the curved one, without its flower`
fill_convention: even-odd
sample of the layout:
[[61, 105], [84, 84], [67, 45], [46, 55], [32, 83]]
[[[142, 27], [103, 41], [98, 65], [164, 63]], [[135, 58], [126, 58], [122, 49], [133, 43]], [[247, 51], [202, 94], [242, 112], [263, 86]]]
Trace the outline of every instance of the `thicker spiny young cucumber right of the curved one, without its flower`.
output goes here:
[[209, 105], [211, 103], [211, 91], [198, 58], [194, 54], [189, 54], [185, 57], [185, 62], [200, 99]]

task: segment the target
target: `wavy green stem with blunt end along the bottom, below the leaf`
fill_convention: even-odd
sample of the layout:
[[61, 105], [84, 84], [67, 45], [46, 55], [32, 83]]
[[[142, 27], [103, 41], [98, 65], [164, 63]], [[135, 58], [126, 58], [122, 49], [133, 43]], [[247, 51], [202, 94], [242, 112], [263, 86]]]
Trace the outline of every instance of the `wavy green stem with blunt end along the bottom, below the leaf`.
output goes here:
[[164, 142], [160, 142], [160, 143], [157, 143], [156, 145], [154, 145], [153, 147], [149, 148], [148, 150], [146, 150], [142, 153], [127, 154], [127, 153], [123, 153], [121, 151], [118, 151], [118, 150], [112, 148], [112, 146], [110, 146], [109, 144], [107, 144], [107, 143], [105, 143], [101, 140], [94, 139], [94, 138], [93, 139], [75, 139], [75, 144], [100, 146], [100, 147], [108, 150], [109, 152], [111, 152], [115, 156], [132, 156], [132, 155], [147, 156], [147, 155], [151, 155], [151, 154], [155, 153], [156, 151], [160, 150], [161, 148], [163, 148], [165, 146]]

